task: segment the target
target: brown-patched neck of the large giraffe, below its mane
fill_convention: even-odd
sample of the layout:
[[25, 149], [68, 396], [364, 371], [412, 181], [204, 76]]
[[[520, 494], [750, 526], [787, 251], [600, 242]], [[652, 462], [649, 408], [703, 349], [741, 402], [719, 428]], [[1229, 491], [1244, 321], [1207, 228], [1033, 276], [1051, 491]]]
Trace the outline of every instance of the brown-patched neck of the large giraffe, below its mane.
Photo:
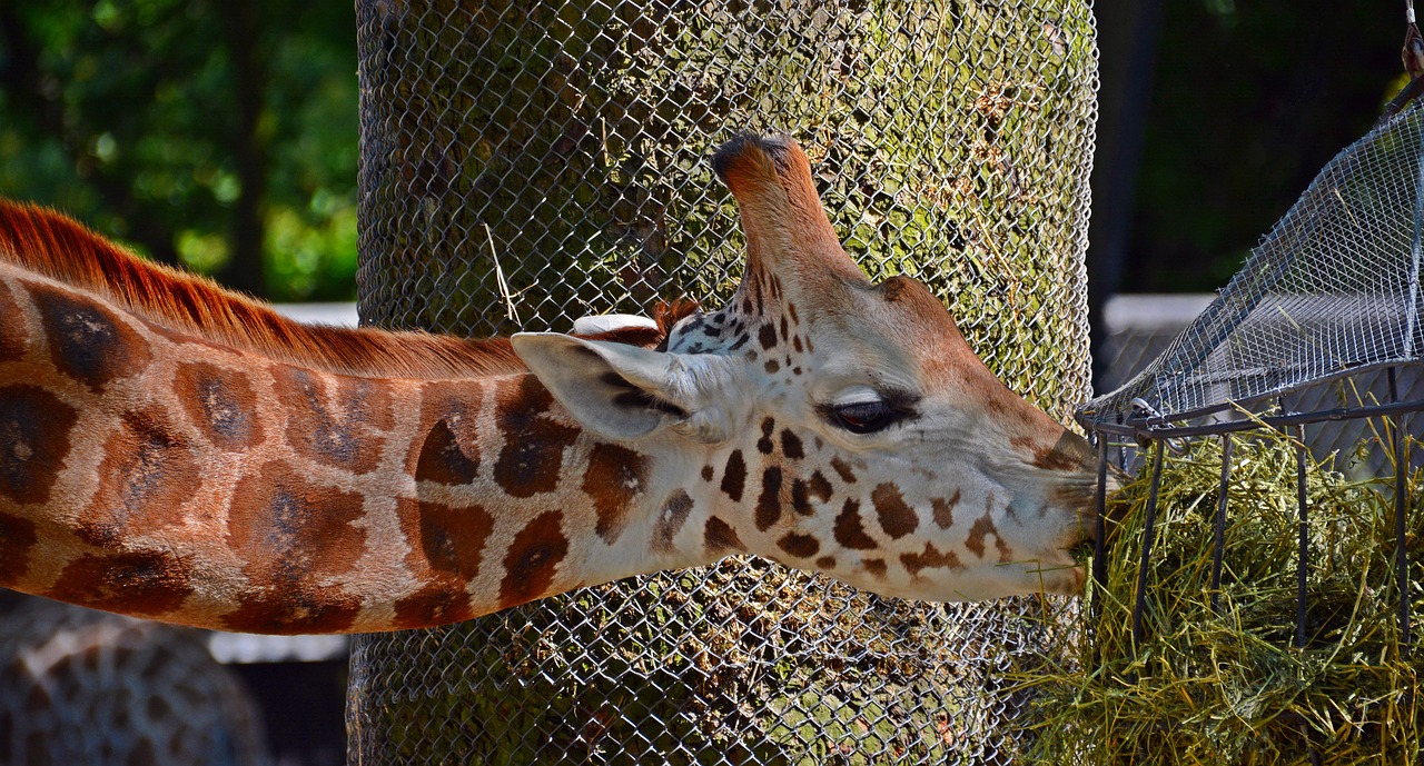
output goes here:
[[693, 562], [675, 458], [580, 430], [527, 372], [300, 367], [4, 265], [0, 316], [0, 585], [356, 632]]

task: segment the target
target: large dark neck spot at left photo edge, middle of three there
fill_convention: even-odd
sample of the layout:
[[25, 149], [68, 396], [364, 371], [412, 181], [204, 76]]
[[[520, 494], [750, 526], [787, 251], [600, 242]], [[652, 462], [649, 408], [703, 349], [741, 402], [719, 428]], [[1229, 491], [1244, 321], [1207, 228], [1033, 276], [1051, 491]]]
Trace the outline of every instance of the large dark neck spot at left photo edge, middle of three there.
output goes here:
[[0, 387], [0, 497], [47, 501], [77, 420], [74, 407], [38, 386]]

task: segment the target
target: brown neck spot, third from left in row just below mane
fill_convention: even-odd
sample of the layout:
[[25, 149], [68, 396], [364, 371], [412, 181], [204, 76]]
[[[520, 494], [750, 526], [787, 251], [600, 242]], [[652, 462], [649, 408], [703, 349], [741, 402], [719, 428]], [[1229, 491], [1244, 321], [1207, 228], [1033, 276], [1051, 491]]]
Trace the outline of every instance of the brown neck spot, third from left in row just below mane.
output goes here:
[[198, 430], [216, 447], [242, 450], [262, 441], [256, 397], [246, 373], [197, 362], [174, 374], [174, 393]]

